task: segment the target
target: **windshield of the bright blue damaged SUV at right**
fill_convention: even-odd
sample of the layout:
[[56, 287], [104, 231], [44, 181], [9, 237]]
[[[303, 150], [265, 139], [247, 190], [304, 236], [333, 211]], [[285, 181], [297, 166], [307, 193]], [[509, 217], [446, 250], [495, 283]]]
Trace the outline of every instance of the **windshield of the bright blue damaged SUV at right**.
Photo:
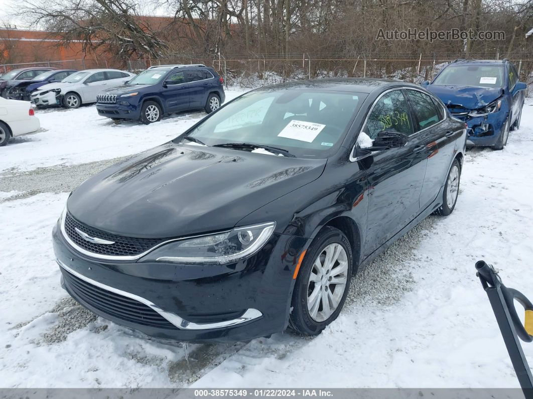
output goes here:
[[461, 65], [447, 67], [433, 82], [435, 85], [502, 87], [503, 67]]

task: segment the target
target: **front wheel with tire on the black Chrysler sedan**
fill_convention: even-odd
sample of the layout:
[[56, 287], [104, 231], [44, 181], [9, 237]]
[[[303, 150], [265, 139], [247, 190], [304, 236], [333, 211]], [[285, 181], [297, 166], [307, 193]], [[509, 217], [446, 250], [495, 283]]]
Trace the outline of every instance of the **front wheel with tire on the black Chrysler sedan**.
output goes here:
[[[333, 263], [326, 264], [329, 251], [337, 257]], [[322, 229], [306, 251], [294, 284], [290, 329], [301, 335], [318, 335], [337, 318], [350, 288], [352, 264], [352, 248], [346, 235], [334, 227]], [[321, 266], [326, 266], [325, 270]], [[324, 273], [322, 277], [321, 273]], [[309, 306], [311, 296], [317, 300]], [[327, 310], [322, 298], [327, 299]]]

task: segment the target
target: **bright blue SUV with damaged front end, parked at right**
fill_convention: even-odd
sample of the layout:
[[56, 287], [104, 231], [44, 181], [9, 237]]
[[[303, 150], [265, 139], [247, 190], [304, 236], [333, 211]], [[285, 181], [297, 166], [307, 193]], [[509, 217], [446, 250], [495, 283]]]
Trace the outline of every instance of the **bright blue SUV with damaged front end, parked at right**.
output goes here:
[[466, 145], [492, 146], [501, 150], [510, 130], [520, 127], [524, 92], [518, 72], [507, 59], [455, 60], [433, 82], [422, 86], [446, 104], [451, 115], [465, 121]]

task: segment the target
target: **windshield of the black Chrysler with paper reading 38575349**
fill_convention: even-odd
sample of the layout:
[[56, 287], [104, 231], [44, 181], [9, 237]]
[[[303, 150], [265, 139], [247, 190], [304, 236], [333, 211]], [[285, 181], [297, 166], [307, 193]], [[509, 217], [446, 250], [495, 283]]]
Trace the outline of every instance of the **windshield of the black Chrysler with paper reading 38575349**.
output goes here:
[[[326, 158], [342, 141], [366, 94], [284, 90], [245, 94], [187, 133], [206, 145], [252, 143], [296, 157]], [[181, 142], [182, 136], [176, 142]], [[183, 143], [189, 143], [186, 139]]]

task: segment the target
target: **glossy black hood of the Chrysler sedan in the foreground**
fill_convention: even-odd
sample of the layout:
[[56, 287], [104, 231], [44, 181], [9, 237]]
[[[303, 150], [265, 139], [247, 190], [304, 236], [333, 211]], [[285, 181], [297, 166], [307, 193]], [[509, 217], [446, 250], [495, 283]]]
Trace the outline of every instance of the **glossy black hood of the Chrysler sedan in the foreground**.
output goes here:
[[316, 180], [325, 165], [325, 159], [167, 143], [89, 178], [67, 207], [78, 221], [126, 237], [214, 232]]

